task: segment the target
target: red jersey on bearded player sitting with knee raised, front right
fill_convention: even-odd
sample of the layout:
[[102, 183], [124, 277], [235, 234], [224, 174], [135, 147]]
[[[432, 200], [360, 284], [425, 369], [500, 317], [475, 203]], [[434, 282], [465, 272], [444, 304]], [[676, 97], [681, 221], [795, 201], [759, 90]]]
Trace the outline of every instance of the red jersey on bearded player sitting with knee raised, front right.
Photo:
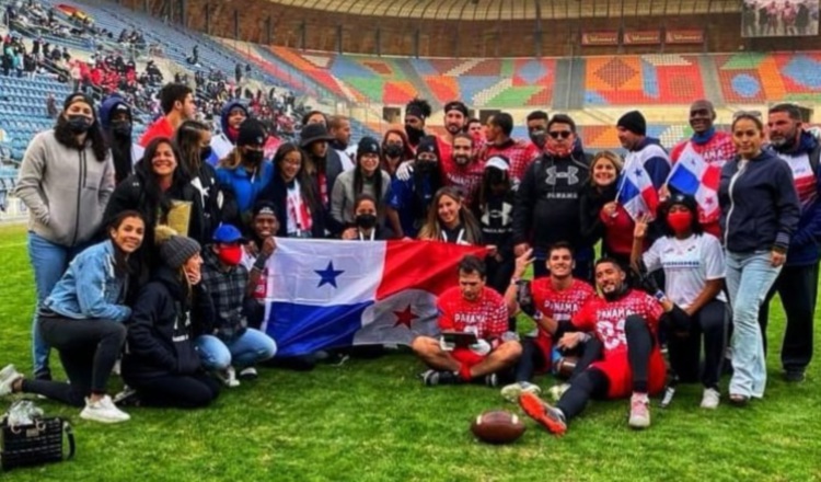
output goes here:
[[616, 301], [608, 301], [598, 296], [590, 299], [573, 317], [571, 322], [580, 331], [594, 332], [604, 344], [604, 357], [608, 358], [627, 352], [627, 337], [624, 334], [627, 317], [635, 314], [644, 318], [650, 332], [656, 333], [662, 313], [661, 305], [655, 298], [631, 289]]

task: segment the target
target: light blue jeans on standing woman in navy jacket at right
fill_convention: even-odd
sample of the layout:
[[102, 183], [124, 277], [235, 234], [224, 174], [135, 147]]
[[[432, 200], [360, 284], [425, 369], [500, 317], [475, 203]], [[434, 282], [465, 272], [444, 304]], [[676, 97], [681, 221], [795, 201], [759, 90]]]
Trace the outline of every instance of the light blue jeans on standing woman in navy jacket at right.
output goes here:
[[727, 291], [732, 305], [732, 379], [730, 394], [764, 397], [767, 381], [764, 340], [759, 325], [761, 305], [780, 273], [768, 251], [727, 252]]

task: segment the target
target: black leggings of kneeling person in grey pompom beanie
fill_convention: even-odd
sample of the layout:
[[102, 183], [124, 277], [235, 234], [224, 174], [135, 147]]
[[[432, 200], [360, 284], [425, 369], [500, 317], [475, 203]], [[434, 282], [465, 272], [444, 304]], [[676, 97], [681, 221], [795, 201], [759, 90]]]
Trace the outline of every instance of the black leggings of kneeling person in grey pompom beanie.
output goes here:
[[147, 406], [197, 409], [211, 403], [220, 392], [219, 382], [205, 374], [127, 378], [126, 382]]

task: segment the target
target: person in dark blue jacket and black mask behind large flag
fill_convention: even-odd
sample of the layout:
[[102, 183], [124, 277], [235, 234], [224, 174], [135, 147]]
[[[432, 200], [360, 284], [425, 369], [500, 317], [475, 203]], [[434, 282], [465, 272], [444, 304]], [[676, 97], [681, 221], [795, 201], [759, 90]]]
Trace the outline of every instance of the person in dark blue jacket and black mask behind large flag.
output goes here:
[[424, 137], [416, 146], [410, 179], [391, 182], [388, 199], [389, 226], [398, 238], [415, 238], [428, 215], [428, 207], [442, 182], [436, 139]]

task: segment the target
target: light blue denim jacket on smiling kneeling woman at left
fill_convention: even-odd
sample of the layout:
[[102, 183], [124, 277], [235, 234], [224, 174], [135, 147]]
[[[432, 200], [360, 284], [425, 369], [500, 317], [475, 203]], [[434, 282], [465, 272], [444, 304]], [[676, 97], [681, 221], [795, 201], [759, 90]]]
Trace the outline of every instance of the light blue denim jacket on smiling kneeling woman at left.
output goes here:
[[125, 298], [124, 277], [114, 273], [112, 241], [94, 244], [78, 254], [46, 298], [44, 307], [66, 318], [125, 321], [131, 309]]

